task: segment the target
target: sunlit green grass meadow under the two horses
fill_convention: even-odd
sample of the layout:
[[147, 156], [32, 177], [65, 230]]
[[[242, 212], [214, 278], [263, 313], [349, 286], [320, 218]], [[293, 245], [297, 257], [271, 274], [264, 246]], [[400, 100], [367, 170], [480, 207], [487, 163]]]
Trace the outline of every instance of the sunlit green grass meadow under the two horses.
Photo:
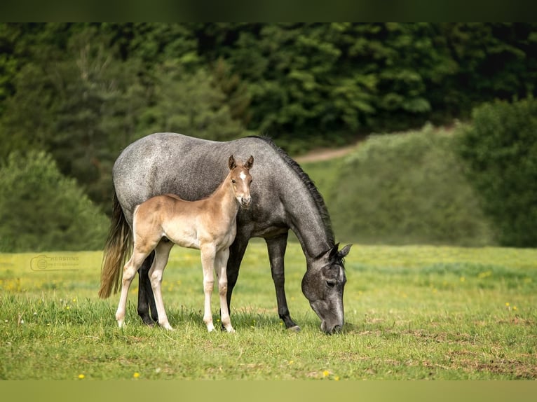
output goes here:
[[[236, 334], [207, 333], [197, 251], [172, 250], [163, 296], [175, 331], [143, 326], [137, 280], [126, 326], [99, 300], [100, 252], [0, 254], [0, 379], [533, 379], [537, 250], [362, 247], [346, 260], [346, 327], [325, 335], [288, 247], [285, 331], [263, 242], [233, 293]], [[215, 319], [218, 300], [213, 295]]]

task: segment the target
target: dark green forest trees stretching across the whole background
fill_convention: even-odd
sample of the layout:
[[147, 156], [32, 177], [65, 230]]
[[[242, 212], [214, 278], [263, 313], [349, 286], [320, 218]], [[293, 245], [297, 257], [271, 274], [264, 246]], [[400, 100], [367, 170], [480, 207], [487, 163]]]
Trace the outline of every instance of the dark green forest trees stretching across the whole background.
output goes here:
[[114, 160], [151, 132], [298, 154], [466, 120], [536, 82], [535, 23], [0, 23], [0, 159], [44, 150], [109, 211]]

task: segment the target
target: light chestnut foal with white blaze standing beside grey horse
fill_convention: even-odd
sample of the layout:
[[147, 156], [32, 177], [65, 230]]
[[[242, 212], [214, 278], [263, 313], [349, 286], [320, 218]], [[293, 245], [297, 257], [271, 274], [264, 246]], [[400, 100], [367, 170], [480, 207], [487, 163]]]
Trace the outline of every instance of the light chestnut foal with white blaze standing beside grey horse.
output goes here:
[[198, 201], [185, 201], [176, 195], [157, 195], [135, 207], [132, 217], [134, 247], [132, 257], [123, 268], [123, 286], [119, 298], [116, 320], [123, 326], [128, 289], [136, 271], [145, 258], [155, 251], [155, 258], [149, 278], [153, 289], [158, 324], [168, 330], [173, 328], [168, 322], [161, 293], [162, 274], [173, 244], [181, 247], [199, 249], [203, 266], [203, 291], [205, 293], [205, 312], [203, 321], [209, 332], [215, 330], [212, 324], [211, 294], [215, 280], [218, 279], [220, 312], [222, 325], [228, 332], [235, 332], [227, 306], [226, 265], [229, 246], [235, 240], [236, 217], [239, 205], [249, 207], [250, 168], [254, 158], [250, 156], [244, 165], [237, 165], [233, 155], [229, 157], [229, 174], [210, 197]]

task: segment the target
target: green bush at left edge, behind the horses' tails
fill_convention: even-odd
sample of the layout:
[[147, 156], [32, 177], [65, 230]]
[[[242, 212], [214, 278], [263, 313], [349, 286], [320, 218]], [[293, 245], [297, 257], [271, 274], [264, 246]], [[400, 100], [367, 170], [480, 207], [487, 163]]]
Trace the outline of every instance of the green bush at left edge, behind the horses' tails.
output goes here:
[[43, 151], [11, 153], [0, 167], [0, 251], [95, 250], [107, 218]]

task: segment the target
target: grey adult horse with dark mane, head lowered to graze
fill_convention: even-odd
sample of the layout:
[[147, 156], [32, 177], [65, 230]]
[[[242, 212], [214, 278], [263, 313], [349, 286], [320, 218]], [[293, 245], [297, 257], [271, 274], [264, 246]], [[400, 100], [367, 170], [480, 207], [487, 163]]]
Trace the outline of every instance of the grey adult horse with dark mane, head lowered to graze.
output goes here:
[[[132, 214], [135, 206], [165, 193], [184, 200], [207, 197], [226, 176], [225, 155], [247, 158], [255, 155], [250, 188], [252, 205], [237, 214], [237, 234], [231, 244], [227, 266], [228, 307], [251, 237], [263, 237], [269, 250], [271, 273], [276, 287], [278, 314], [286, 328], [298, 330], [291, 319], [285, 296], [284, 256], [291, 229], [306, 256], [302, 292], [321, 320], [322, 331], [333, 333], [344, 325], [343, 294], [346, 282], [343, 258], [350, 245], [338, 250], [329, 215], [320, 193], [297, 162], [270, 139], [246, 137], [233, 141], [207, 141], [175, 133], [143, 137], [123, 150], [113, 169], [114, 209], [104, 249], [100, 296], [117, 291], [120, 278], [116, 266], [123, 266], [132, 242]], [[155, 317], [148, 271], [151, 256], [140, 268], [138, 314], [151, 325]]]

